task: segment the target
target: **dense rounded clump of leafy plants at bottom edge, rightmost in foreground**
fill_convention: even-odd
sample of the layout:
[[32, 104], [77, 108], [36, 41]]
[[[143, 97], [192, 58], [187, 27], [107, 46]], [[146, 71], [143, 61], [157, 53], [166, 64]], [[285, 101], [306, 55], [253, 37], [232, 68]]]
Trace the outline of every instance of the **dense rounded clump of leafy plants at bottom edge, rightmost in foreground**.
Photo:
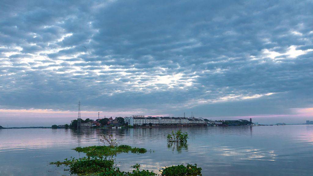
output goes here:
[[191, 165], [187, 163], [187, 166], [181, 164], [178, 166], [165, 167], [160, 170], [162, 176], [191, 176], [191, 175], [202, 175], [202, 168], [197, 168], [197, 164]]

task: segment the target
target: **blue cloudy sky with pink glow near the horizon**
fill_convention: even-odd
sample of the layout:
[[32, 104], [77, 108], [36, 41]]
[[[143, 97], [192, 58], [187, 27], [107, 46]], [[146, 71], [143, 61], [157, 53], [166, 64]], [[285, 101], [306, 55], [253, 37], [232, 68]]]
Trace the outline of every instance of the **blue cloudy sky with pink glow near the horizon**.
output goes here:
[[0, 0], [0, 125], [313, 120], [313, 1]]

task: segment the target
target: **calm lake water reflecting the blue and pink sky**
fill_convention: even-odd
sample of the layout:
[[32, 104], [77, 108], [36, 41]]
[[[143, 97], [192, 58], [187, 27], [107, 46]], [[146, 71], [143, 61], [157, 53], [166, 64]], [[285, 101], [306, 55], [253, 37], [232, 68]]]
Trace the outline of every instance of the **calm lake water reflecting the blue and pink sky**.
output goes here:
[[[166, 136], [188, 132], [188, 145], [177, 150]], [[83, 157], [72, 148], [101, 145], [100, 134], [113, 134], [120, 144], [154, 152], [122, 153], [116, 163], [130, 171], [139, 163], [156, 173], [163, 166], [197, 163], [203, 175], [313, 175], [313, 125], [259, 127], [172, 127], [130, 129], [2, 129], [0, 175], [61, 176], [63, 168], [49, 162]], [[102, 144], [103, 145], [103, 144]]]

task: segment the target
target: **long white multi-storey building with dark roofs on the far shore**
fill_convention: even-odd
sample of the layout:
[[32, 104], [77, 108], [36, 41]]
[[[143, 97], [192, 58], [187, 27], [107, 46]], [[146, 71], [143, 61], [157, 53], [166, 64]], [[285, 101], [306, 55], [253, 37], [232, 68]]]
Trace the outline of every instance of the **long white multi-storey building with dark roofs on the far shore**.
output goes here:
[[187, 117], [145, 117], [145, 116], [131, 116], [124, 117], [125, 123], [128, 125], [143, 125], [143, 124], [201, 124], [204, 120], [198, 118]]

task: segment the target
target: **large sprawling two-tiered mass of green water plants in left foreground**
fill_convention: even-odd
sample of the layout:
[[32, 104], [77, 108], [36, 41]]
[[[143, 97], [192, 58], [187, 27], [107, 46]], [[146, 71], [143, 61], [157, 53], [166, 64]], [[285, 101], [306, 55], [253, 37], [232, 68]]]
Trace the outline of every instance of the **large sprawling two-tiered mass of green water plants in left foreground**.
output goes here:
[[[77, 147], [73, 150], [77, 152], [86, 153], [87, 157], [84, 158], [71, 158], [64, 159], [64, 161], [51, 162], [56, 166], [69, 166], [69, 172], [77, 175], [98, 175], [98, 176], [155, 176], [153, 172], [148, 170], [139, 170], [140, 165], [136, 164], [132, 172], [121, 172], [119, 168], [114, 166], [113, 159], [107, 159], [107, 156], [116, 156], [119, 153], [146, 153], [145, 148], [136, 148], [128, 145], [113, 146], [90, 146], [90, 147]], [[64, 169], [67, 170], [67, 169]]]

